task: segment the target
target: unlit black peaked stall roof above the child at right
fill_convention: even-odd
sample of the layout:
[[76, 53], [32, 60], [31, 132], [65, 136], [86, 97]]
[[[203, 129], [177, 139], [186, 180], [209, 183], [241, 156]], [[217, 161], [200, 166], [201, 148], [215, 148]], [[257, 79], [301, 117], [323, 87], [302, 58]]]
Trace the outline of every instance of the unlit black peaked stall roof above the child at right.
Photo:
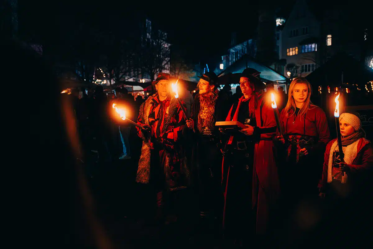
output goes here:
[[[373, 80], [373, 70], [346, 53], [339, 53], [307, 75], [313, 87], [339, 86], [343, 83], [367, 84]], [[317, 89], [317, 88], [314, 88]]]

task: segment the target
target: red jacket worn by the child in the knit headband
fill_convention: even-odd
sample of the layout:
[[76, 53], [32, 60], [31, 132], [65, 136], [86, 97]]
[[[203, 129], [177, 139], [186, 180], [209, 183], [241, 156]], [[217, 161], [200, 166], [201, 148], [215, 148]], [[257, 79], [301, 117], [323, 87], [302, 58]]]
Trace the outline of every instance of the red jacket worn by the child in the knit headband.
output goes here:
[[[324, 154], [324, 164], [323, 164], [323, 173], [321, 180], [319, 182], [319, 189], [321, 192], [323, 192], [327, 185], [327, 169], [329, 166], [329, 155], [330, 150], [335, 142], [336, 138], [330, 141], [325, 150]], [[364, 174], [369, 169], [372, 169], [373, 167], [373, 148], [372, 144], [369, 140], [365, 138], [360, 138], [360, 141], [357, 144], [357, 154], [352, 162], [352, 165], [350, 166], [350, 172], [348, 174], [348, 181], [354, 181], [354, 178], [358, 177], [358, 174], [360, 176]]]

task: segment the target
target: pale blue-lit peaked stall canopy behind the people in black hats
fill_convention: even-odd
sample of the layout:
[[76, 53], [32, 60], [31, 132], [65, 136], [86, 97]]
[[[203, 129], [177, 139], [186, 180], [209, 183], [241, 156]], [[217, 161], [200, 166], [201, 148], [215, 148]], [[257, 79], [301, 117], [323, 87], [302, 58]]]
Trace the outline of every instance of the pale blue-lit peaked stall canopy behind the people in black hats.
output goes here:
[[220, 77], [228, 73], [242, 73], [242, 71], [244, 71], [245, 68], [254, 68], [261, 72], [260, 79], [264, 82], [273, 81], [278, 83], [285, 83], [287, 81], [283, 75], [279, 74], [272, 68], [261, 65], [260, 63], [256, 62], [253, 57], [249, 55], [242, 56], [239, 60], [237, 60], [231, 66], [228, 66], [228, 68], [226, 68], [217, 76]]

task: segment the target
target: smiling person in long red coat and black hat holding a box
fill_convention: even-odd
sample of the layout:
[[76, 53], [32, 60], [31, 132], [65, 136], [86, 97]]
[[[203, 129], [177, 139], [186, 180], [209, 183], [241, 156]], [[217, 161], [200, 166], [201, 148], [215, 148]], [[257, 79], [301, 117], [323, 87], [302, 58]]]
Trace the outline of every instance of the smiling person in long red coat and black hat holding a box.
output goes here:
[[257, 97], [256, 91], [265, 88], [253, 75], [258, 73], [252, 68], [242, 72], [240, 86], [244, 96], [232, 105], [226, 118], [247, 126], [231, 134], [222, 168], [225, 234], [232, 234], [240, 243], [255, 232], [266, 233], [270, 208], [279, 196], [272, 140], [276, 120], [270, 102]]

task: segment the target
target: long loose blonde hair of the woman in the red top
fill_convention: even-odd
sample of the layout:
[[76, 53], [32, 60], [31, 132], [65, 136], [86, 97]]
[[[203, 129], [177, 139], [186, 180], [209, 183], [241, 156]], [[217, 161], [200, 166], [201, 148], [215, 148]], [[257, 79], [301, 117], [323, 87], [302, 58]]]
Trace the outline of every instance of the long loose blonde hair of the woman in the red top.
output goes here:
[[286, 103], [286, 106], [284, 108], [286, 117], [289, 117], [290, 112], [292, 112], [290, 116], [294, 115], [296, 106], [295, 106], [295, 101], [293, 97], [293, 90], [294, 90], [295, 85], [298, 83], [307, 84], [307, 88], [308, 88], [307, 98], [304, 101], [304, 105], [299, 110], [298, 116], [304, 118], [305, 115], [307, 114], [308, 109], [310, 109], [311, 106], [314, 106], [313, 103], [311, 102], [311, 92], [312, 92], [311, 84], [307, 81], [305, 77], [294, 78], [294, 80], [292, 80], [290, 83], [288, 103]]

